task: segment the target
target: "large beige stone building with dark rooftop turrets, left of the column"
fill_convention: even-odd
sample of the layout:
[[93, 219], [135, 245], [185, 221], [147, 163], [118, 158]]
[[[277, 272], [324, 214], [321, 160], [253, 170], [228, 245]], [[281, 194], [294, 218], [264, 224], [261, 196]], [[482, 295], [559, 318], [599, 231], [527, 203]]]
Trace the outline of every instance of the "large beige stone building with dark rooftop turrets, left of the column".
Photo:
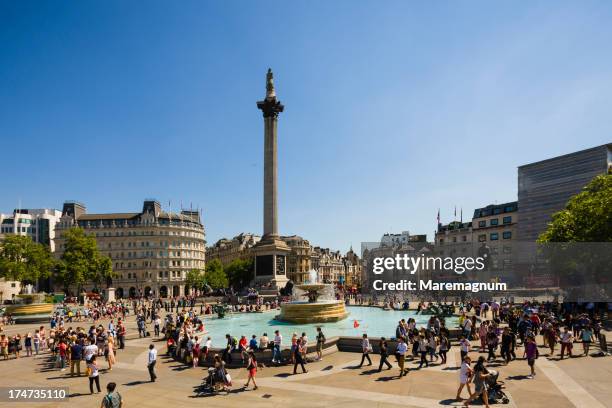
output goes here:
[[95, 236], [101, 254], [112, 260], [118, 276], [111, 284], [119, 298], [189, 294], [187, 272], [205, 267], [205, 232], [196, 211], [163, 212], [159, 202], [146, 200], [141, 212], [87, 214], [83, 204], [67, 202], [55, 227], [58, 258], [63, 234], [73, 227]]

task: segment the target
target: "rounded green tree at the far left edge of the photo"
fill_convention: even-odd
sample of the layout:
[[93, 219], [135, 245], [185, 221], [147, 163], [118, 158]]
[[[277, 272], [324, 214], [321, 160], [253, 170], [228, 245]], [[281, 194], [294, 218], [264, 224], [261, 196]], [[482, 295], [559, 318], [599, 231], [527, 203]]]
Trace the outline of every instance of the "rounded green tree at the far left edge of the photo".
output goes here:
[[8, 235], [0, 243], [0, 277], [6, 280], [34, 285], [48, 277], [54, 265], [49, 248], [28, 236]]

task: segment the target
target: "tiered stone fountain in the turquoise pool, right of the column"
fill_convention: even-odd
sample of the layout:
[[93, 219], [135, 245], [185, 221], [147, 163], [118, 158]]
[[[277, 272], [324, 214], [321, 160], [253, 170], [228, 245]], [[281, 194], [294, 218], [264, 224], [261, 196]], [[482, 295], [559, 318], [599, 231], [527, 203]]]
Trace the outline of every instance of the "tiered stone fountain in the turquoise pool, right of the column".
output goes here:
[[293, 287], [292, 300], [281, 305], [276, 320], [306, 324], [337, 322], [348, 316], [344, 301], [336, 300], [331, 284], [316, 283], [317, 272], [309, 272], [308, 283]]

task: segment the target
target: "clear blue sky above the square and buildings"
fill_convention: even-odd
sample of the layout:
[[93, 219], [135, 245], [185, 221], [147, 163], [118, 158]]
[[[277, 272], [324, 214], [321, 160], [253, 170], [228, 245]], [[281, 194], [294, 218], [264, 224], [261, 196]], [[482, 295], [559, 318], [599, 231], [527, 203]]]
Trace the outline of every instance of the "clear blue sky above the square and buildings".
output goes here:
[[0, 1], [0, 211], [203, 208], [347, 250], [516, 199], [521, 164], [611, 141], [612, 4]]

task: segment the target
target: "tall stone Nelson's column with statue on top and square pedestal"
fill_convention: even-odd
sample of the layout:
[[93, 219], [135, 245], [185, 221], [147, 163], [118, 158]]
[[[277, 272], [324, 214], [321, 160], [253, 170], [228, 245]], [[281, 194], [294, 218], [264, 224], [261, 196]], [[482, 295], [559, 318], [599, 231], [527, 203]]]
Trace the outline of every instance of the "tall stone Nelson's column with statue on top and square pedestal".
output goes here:
[[272, 289], [278, 290], [288, 281], [286, 259], [290, 249], [278, 235], [277, 124], [285, 107], [276, 99], [271, 69], [266, 75], [266, 98], [257, 102], [257, 108], [264, 117], [264, 231], [261, 241], [253, 247], [255, 282], [269, 282]]

